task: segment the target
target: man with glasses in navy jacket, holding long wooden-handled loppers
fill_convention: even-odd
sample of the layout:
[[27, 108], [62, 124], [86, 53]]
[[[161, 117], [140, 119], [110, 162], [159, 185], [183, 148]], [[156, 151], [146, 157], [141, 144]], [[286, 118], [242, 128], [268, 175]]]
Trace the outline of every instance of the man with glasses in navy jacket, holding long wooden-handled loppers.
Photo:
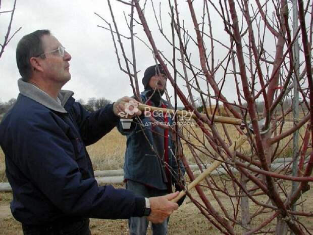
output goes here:
[[[90, 234], [89, 217], [164, 221], [178, 208], [178, 195], [144, 198], [99, 186], [85, 146], [119, 122], [124, 97], [89, 113], [62, 90], [71, 78], [71, 55], [48, 30], [25, 35], [16, 60], [20, 94], [0, 124], [0, 145], [13, 190], [11, 211], [24, 234]], [[134, 115], [140, 115], [138, 111]]]

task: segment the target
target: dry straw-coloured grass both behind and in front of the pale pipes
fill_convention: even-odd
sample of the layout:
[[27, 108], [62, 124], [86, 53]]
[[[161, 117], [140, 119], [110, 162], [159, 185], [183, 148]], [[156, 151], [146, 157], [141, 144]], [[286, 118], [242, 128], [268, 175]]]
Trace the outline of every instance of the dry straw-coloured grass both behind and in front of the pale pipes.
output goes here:
[[[284, 127], [284, 130], [287, 130], [292, 126], [291, 122], [287, 122]], [[222, 126], [219, 124], [217, 125], [218, 130], [220, 133], [223, 132]], [[238, 137], [237, 131], [232, 125], [226, 126], [227, 130], [230, 133], [230, 137], [235, 139]], [[188, 129], [188, 127], [187, 127]], [[194, 131], [187, 133], [187, 129], [184, 130], [186, 138], [197, 145], [201, 146], [198, 140], [195, 139], [192, 135], [197, 135], [200, 139], [200, 142], [203, 142], [208, 150], [211, 148], [208, 147], [205, 138], [201, 134], [201, 130], [199, 128], [194, 128]], [[300, 133], [303, 135], [304, 128], [302, 127]], [[222, 134], [223, 136], [223, 134]], [[225, 137], [225, 136], [224, 136]], [[280, 149], [285, 146], [286, 143], [289, 142], [291, 136], [286, 137], [280, 144]], [[300, 141], [300, 140], [299, 140]], [[100, 139], [96, 144], [92, 146], [88, 146], [87, 150], [91, 157], [91, 161], [94, 166], [94, 170], [111, 170], [111, 169], [121, 169], [124, 164], [124, 153], [125, 153], [125, 143], [126, 137], [122, 136], [117, 129], [113, 129], [109, 134], [105, 137]], [[290, 142], [289, 147], [285, 148], [280, 157], [283, 156], [290, 156], [291, 155], [291, 145]], [[249, 151], [249, 146], [243, 146], [244, 151]], [[190, 163], [193, 163], [192, 155], [186, 145], [184, 145], [184, 153]], [[199, 153], [199, 152], [198, 152]], [[207, 157], [204, 157], [203, 154], [199, 154], [203, 161], [210, 161]], [[5, 177], [5, 163], [4, 163], [4, 154], [0, 150], [0, 181], [7, 181]], [[123, 185], [116, 185], [117, 187], [123, 187]], [[306, 193], [303, 196], [303, 200], [305, 202], [305, 211], [313, 211], [313, 198], [310, 196], [310, 192]], [[196, 193], [193, 193], [195, 198], [198, 198]], [[213, 205], [218, 205], [216, 201], [213, 199], [210, 193], [207, 192], [207, 197], [211, 201]], [[262, 200], [262, 197], [259, 196], [259, 200]], [[11, 193], [1, 193], [0, 194], [0, 235], [2, 234], [22, 234], [20, 224], [12, 217], [10, 210], [9, 210], [9, 202], [11, 201], [12, 194]], [[220, 195], [221, 200], [223, 203], [229, 207], [231, 210], [231, 203], [227, 202], [229, 200], [224, 195]], [[251, 210], [255, 211], [257, 207], [251, 203]], [[267, 218], [269, 214], [261, 214], [255, 223], [259, 223]], [[301, 222], [304, 224], [308, 224], [308, 228], [311, 232], [313, 232], [313, 218], [312, 217], [305, 217], [301, 218]], [[254, 224], [255, 225], [255, 224]], [[271, 225], [269, 225], [271, 226]], [[91, 219], [90, 228], [93, 235], [96, 234], [128, 234], [128, 225], [126, 220], [100, 220], [100, 219]], [[237, 229], [237, 228], [236, 228]], [[241, 233], [238, 230], [238, 234]], [[151, 234], [151, 233], [148, 233]], [[219, 231], [212, 226], [204, 216], [202, 216], [198, 209], [190, 202], [189, 199], [186, 199], [185, 203], [180, 207], [179, 211], [175, 212], [170, 219], [170, 226], [169, 226], [169, 234], [220, 234]]]

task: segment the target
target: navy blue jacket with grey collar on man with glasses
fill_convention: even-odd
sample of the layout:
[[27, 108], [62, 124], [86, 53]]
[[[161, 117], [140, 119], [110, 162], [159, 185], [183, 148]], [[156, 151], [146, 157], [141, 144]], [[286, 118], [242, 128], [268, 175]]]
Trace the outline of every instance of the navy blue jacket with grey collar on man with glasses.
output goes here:
[[20, 94], [0, 125], [13, 216], [24, 224], [142, 216], [144, 198], [97, 184], [85, 148], [117, 125], [112, 105], [89, 113], [70, 97], [64, 109]]

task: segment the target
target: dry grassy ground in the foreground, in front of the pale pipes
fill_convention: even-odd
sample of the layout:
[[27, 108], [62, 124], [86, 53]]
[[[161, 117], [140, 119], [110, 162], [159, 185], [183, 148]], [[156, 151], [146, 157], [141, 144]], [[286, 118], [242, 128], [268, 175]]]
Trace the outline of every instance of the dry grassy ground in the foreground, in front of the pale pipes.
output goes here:
[[[215, 178], [218, 180], [217, 178]], [[229, 182], [230, 184], [230, 182]], [[123, 187], [123, 185], [115, 185], [116, 187]], [[231, 188], [231, 185], [229, 185]], [[290, 185], [288, 185], [290, 186]], [[208, 200], [211, 204], [218, 209], [218, 203], [212, 195], [204, 189]], [[232, 193], [230, 191], [230, 193]], [[232, 211], [232, 204], [229, 202], [229, 198], [225, 195], [218, 193], [220, 200], [226, 205], [226, 209]], [[198, 195], [195, 191], [192, 192], [194, 199], [199, 200]], [[0, 193], [0, 210], [7, 211], [4, 216], [0, 213], [0, 235], [10, 234], [10, 235], [20, 235], [21, 225], [17, 222], [11, 215], [9, 211], [9, 202], [11, 201], [11, 193]], [[256, 197], [259, 201], [265, 202], [264, 196]], [[305, 201], [305, 211], [313, 211], [313, 198], [310, 197], [309, 193], [303, 195], [302, 198]], [[255, 212], [258, 207], [250, 202], [250, 211]], [[260, 214], [251, 224], [252, 226], [258, 225], [260, 222], [268, 218], [272, 213]], [[240, 219], [240, 216], [238, 216]], [[310, 232], [313, 232], [313, 217], [302, 217], [300, 221], [306, 224]], [[274, 225], [270, 224], [267, 228], [274, 229]], [[127, 220], [102, 220], [102, 219], [91, 219], [90, 229], [93, 235], [127, 235], [129, 234]], [[235, 231], [237, 234], [242, 234], [241, 229], [235, 226]], [[148, 234], [151, 234], [149, 230]], [[180, 235], [218, 235], [221, 234], [218, 229], [216, 229], [206, 218], [200, 214], [199, 210], [195, 207], [190, 199], [186, 199], [184, 204], [179, 208], [178, 211], [174, 212], [170, 218], [169, 224], [169, 235], [180, 234]]]

